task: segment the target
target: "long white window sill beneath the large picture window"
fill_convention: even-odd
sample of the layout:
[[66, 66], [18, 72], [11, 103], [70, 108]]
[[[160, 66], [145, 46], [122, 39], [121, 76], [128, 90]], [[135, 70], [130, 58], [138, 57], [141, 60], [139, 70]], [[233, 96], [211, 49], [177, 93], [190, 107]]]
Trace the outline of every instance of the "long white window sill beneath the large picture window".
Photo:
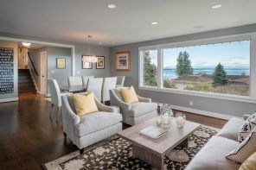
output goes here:
[[151, 87], [151, 86], [139, 86], [138, 89], [145, 90], [145, 91], [160, 91], [160, 92], [168, 92], [168, 93], [196, 96], [196, 97], [202, 97], [202, 98], [217, 98], [217, 99], [222, 99], [222, 100], [230, 100], [230, 101], [236, 101], [236, 102], [256, 104], [256, 98], [243, 97], [243, 96], [231, 95], [231, 94], [220, 94], [220, 93], [202, 92], [202, 91], [175, 90], [175, 89], [167, 89], [167, 88], [159, 89], [157, 87]]

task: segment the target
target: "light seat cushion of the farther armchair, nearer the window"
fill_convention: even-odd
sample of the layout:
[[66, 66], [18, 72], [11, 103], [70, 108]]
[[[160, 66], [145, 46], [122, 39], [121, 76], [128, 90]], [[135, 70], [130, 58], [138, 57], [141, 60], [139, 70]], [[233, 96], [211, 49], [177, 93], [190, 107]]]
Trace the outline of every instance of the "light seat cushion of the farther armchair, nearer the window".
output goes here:
[[156, 103], [134, 103], [131, 104], [131, 110], [127, 111], [128, 116], [136, 117], [136, 116], [142, 116], [145, 113], [151, 112], [153, 110], [157, 110], [157, 104]]

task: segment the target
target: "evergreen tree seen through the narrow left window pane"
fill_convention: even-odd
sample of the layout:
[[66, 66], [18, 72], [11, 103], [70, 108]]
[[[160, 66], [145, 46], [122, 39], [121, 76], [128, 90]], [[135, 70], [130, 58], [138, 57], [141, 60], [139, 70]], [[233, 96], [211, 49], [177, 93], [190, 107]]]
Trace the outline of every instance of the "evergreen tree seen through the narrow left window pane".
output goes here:
[[151, 63], [150, 52], [144, 51], [144, 85], [157, 86], [157, 66]]

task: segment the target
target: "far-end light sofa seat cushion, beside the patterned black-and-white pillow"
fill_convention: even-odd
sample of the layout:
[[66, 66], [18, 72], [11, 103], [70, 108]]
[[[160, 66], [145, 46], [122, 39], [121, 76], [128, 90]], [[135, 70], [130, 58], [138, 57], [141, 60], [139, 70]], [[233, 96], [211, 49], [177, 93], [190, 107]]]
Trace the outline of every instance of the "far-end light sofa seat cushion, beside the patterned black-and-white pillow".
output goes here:
[[240, 126], [244, 122], [241, 118], [231, 118], [217, 135], [238, 141]]

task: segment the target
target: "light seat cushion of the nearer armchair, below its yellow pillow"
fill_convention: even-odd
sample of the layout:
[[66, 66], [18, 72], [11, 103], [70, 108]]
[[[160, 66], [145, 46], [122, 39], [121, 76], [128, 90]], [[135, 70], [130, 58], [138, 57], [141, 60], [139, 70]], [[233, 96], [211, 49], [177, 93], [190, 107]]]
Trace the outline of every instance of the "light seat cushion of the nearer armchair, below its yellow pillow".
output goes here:
[[80, 116], [80, 123], [75, 125], [75, 135], [82, 136], [93, 133], [100, 129], [105, 129], [122, 121], [122, 115], [119, 113], [94, 112]]

